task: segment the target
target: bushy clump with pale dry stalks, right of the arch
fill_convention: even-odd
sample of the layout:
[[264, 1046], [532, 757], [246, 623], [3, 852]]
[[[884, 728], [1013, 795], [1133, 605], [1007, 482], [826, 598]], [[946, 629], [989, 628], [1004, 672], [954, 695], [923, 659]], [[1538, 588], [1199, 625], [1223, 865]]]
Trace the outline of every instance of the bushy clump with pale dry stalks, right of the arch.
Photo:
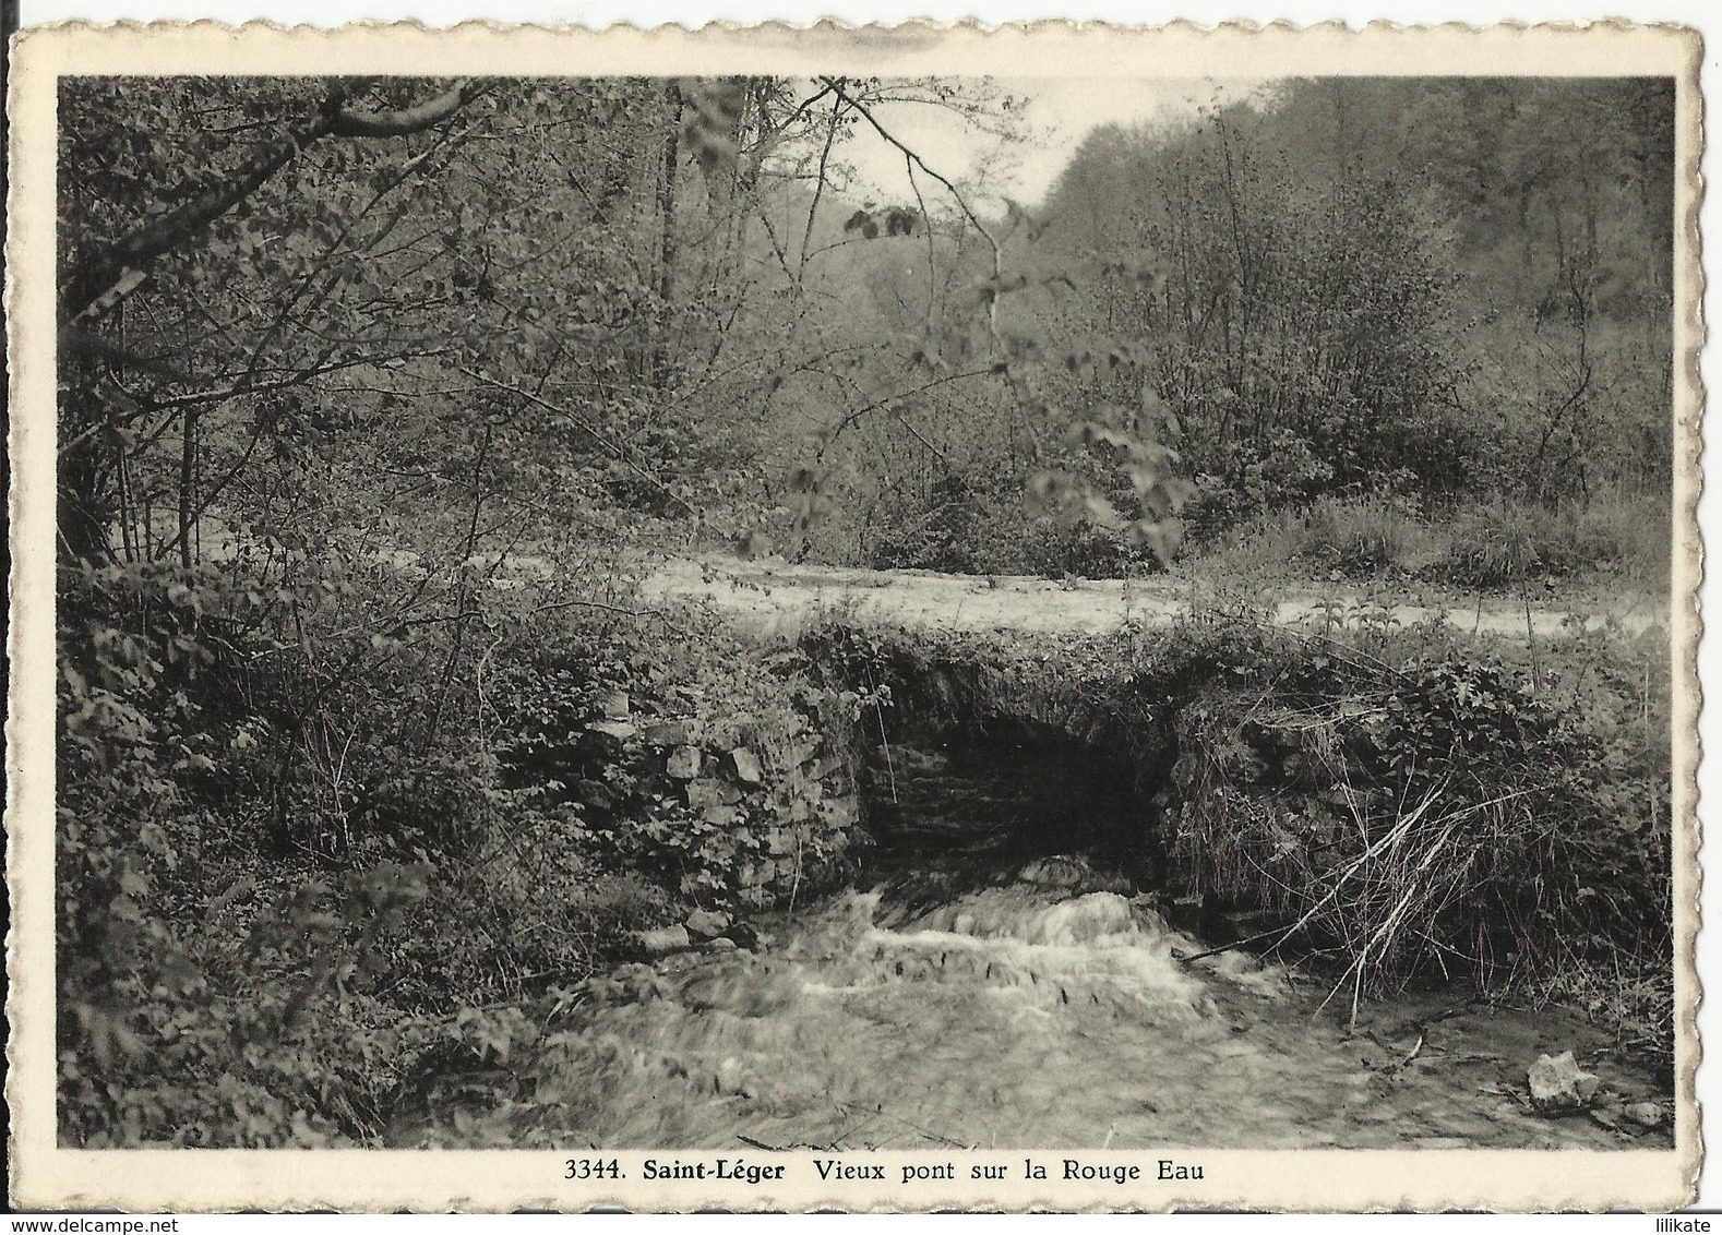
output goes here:
[[1502, 665], [1307, 656], [1211, 687], [1178, 748], [1186, 877], [1338, 956], [1353, 996], [1417, 975], [1550, 990], [1665, 951], [1665, 748]]

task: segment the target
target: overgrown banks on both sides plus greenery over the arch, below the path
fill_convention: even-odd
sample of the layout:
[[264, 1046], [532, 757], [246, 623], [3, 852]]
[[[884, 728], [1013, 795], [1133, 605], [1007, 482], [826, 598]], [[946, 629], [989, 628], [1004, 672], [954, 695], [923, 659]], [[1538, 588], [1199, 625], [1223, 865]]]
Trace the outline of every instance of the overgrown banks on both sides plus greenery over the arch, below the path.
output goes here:
[[[839, 625], [773, 649], [697, 613], [553, 610], [484, 646], [434, 641], [418, 675], [313, 634], [315, 663], [348, 665], [334, 680], [270, 667], [303, 648], [193, 632], [200, 593], [88, 586], [91, 610], [139, 606], [150, 637], [93, 624], [64, 649], [74, 1144], [367, 1142], [455, 1101], [451, 1078], [494, 1089], [539, 1013], [639, 958], [642, 928], [852, 877], [861, 746], [1000, 717], [1114, 753], [1143, 791], [1111, 846], [1138, 854], [1138, 884], [1259, 911], [1257, 946], [1312, 959], [1345, 999], [1443, 978], [1670, 1044], [1657, 632], [1576, 634], [1533, 661], [1445, 627], [1317, 636], [1216, 610], [1042, 641]], [[437, 741], [444, 680], [475, 711], [444, 711]], [[425, 749], [418, 777], [394, 742]], [[691, 751], [692, 775], [672, 763]]]

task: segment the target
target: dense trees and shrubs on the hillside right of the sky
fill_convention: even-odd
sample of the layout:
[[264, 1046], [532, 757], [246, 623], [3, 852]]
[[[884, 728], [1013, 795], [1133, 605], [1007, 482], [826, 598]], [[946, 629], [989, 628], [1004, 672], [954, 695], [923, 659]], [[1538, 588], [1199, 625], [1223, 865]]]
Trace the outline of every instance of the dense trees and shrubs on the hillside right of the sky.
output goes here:
[[1056, 184], [1068, 329], [1128, 339], [1192, 515], [1586, 501], [1670, 477], [1670, 83], [1297, 81], [1106, 129]]

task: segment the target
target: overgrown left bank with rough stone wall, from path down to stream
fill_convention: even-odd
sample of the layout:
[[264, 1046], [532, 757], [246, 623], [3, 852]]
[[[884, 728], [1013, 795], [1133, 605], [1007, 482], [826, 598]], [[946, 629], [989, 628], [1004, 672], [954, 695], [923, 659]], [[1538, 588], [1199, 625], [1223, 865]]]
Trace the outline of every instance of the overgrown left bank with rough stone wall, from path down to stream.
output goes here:
[[[339, 562], [305, 565], [267, 589], [65, 572], [67, 1144], [375, 1140], [427, 1070], [530, 1037], [513, 1002], [639, 928], [847, 870], [846, 761], [820, 727], [856, 699], [794, 658], [515, 593], [406, 624]], [[618, 692], [711, 749], [758, 748], [746, 818], [677, 799], [661, 751], [604, 725]]]

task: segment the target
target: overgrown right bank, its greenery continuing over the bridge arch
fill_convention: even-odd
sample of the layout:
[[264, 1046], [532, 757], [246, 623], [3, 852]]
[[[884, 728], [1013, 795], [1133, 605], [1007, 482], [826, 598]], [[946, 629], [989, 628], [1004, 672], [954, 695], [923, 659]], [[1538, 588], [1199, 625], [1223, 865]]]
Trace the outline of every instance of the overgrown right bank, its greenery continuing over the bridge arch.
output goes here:
[[889, 732], [1028, 723], [1111, 760], [1137, 806], [1090, 839], [1168, 904], [1255, 922], [1252, 947], [1307, 961], [1341, 1006], [1446, 982], [1672, 1049], [1663, 630], [1531, 648], [1384, 610], [1298, 630], [1214, 606], [1100, 637], [815, 646], [897, 684]]

